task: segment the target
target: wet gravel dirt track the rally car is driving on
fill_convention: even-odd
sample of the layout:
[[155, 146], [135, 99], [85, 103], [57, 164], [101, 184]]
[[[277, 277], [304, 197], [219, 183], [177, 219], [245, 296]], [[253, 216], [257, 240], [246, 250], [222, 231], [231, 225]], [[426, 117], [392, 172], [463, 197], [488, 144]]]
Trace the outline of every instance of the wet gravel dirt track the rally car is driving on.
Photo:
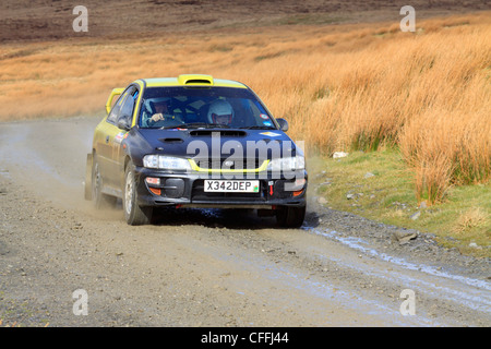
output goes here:
[[[490, 326], [489, 261], [320, 207], [164, 213], [129, 227], [83, 200], [98, 118], [0, 125], [0, 318], [25, 326]], [[327, 169], [328, 171], [328, 169]], [[316, 173], [310, 173], [315, 178]], [[314, 184], [311, 189], [314, 189]], [[73, 314], [73, 291], [88, 315]], [[416, 315], [403, 316], [404, 289]]]

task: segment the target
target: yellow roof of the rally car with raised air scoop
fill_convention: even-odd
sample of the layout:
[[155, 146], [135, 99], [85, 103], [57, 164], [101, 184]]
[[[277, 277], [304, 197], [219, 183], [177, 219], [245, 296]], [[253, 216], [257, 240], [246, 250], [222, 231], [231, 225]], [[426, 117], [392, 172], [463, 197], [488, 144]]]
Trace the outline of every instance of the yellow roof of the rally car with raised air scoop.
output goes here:
[[218, 86], [248, 88], [244, 84], [231, 80], [214, 79], [212, 75], [182, 74], [178, 77], [152, 77], [142, 79], [147, 87], [167, 86]]

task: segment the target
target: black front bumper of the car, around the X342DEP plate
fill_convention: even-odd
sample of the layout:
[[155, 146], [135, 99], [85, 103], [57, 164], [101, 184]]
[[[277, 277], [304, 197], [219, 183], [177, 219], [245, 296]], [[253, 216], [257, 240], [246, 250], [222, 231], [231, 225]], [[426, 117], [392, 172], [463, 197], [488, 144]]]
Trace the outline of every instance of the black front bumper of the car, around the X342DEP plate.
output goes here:
[[[209, 174], [211, 176], [211, 174]], [[158, 178], [159, 183], [147, 183], [146, 178]], [[203, 173], [171, 173], [164, 170], [135, 168], [137, 204], [140, 206], [215, 207], [215, 208], [262, 208], [277, 206], [304, 206], [307, 171], [298, 171], [288, 178], [267, 173], [231, 177], [214, 174], [214, 180], [259, 180], [258, 193], [205, 192]], [[301, 186], [292, 185], [297, 179], [304, 179]], [[289, 183], [289, 184], [287, 184]], [[287, 186], [288, 190], [285, 190]], [[289, 188], [295, 186], [295, 188]]]

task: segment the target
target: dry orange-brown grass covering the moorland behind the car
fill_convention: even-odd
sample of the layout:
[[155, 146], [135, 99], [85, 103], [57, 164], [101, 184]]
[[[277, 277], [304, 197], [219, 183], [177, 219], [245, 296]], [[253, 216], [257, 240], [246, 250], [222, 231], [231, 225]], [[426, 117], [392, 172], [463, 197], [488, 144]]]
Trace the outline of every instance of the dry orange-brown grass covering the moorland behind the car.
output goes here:
[[491, 174], [491, 12], [141, 40], [0, 47], [0, 120], [100, 112], [139, 77], [207, 73], [251, 86], [309, 149], [398, 145], [419, 197]]

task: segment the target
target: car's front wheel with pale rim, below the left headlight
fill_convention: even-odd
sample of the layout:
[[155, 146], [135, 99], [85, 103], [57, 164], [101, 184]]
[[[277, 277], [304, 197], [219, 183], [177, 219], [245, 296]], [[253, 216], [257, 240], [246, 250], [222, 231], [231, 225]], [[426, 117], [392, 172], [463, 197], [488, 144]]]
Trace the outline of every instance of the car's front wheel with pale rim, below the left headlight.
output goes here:
[[130, 161], [124, 172], [124, 188], [122, 206], [124, 219], [130, 226], [140, 226], [151, 222], [153, 207], [137, 204], [137, 190], [134, 179], [134, 166]]

